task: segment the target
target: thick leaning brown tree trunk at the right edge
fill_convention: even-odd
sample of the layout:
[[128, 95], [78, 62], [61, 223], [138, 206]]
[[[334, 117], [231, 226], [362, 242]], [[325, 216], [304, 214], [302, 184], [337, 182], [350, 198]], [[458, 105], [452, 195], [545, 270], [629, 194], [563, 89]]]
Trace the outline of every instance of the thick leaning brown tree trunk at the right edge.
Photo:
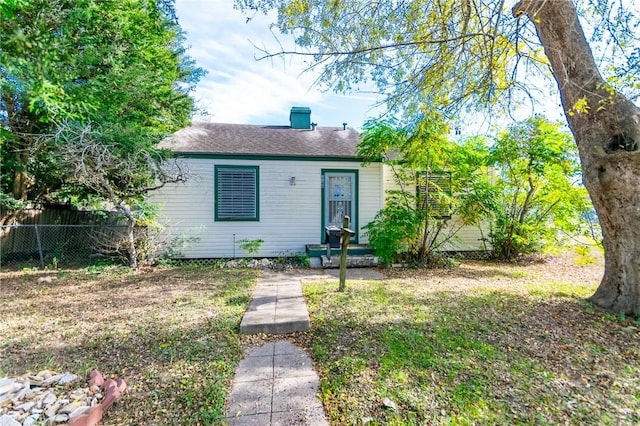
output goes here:
[[640, 110], [600, 75], [571, 0], [523, 0], [513, 12], [536, 26], [602, 227], [605, 270], [591, 300], [640, 316]]

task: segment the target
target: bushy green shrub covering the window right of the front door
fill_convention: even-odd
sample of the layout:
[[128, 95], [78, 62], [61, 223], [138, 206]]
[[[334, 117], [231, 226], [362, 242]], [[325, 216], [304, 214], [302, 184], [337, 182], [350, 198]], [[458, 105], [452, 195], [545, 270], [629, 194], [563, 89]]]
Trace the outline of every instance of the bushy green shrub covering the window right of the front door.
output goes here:
[[442, 247], [461, 226], [482, 220], [478, 212], [489, 208], [472, 208], [476, 193], [468, 190], [487, 182], [488, 151], [477, 150], [475, 141], [451, 142], [446, 130], [437, 114], [426, 115], [415, 128], [393, 120], [365, 126], [359, 154], [365, 163], [382, 160], [395, 183], [385, 207], [365, 226], [383, 263], [439, 264]]

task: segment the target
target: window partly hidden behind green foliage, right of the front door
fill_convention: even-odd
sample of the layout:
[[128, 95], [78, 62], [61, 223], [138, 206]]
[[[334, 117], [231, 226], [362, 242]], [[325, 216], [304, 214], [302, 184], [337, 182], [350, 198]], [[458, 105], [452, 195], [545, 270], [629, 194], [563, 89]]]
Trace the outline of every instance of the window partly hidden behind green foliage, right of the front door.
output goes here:
[[451, 173], [419, 173], [418, 208], [440, 219], [451, 218]]

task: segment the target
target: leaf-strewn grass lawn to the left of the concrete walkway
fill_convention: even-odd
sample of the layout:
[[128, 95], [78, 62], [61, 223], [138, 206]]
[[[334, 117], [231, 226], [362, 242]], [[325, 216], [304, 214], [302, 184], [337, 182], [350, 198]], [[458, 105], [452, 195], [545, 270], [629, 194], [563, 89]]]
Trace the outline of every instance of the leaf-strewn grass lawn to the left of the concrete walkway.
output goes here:
[[244, 356], [238, 329], [255, 273], [167, 270], [107, 281], [71, 274], [7, 285], [0, 372], [97, 368], [121, 377], [129, 389], [106, 413], [109, 424], [221, 422]]

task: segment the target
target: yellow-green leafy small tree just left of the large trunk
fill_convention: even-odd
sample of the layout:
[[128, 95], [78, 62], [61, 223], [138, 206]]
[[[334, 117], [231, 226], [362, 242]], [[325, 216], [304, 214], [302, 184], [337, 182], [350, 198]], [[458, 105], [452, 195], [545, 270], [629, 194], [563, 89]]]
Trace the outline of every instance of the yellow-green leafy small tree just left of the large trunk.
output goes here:
[[575, 143], [560, 126], [530, 118], [502, 132], [491, 148], [498, 202], [490, 212], [490, 240], [499, 258], [535, 253], [557, 243], [559, 232], [578, 232], [592, 208], [586, 189], [576, 185]]

